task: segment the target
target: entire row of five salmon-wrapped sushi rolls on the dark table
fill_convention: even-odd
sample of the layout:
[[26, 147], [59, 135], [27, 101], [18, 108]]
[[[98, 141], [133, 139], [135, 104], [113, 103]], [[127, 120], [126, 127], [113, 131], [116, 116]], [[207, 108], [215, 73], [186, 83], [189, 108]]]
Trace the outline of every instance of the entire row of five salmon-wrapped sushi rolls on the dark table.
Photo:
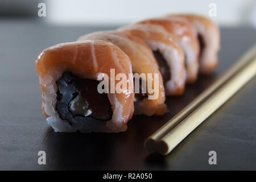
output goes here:
[[47, 123], [59, 132], [118, 133], [134, 114], [163, 115], [166, 97], [217, 67], [219, 48], [212, 20], [168, 14], [44, 49], [35, 65]]

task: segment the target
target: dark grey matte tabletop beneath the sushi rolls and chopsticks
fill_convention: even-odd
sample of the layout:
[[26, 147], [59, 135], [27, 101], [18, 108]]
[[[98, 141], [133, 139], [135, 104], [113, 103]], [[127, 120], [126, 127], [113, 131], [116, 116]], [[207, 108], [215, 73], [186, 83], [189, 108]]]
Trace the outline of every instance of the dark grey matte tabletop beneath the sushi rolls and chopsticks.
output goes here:
[[[38, 20], [0, 20], [0, 169], [256, 169], [256, 78], [206, 119], [168, 156], [150, 154], [144, 139], [220, 77], [256, 42], [253, 28], [221, 28], [220, 66], [168, 97], [170, 113], [139, 115], [118, 134], [55, 133], [41, 110], [34, 61], [42, 49], [116, 27], [59, 27]], [[38, 164], [38, 151], [47, 164]], [[209, 165], [209, 151], [217, 165]]]

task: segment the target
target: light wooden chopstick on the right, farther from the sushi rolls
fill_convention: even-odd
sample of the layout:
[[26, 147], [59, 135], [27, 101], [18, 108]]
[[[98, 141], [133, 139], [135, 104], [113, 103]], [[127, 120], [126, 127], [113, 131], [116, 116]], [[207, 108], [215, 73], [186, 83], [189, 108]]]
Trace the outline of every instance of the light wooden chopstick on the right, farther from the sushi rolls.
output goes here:
[[158, 144], [158, 152], [169, 154], [191, 131], [233, 96], [243, 85], [256, 75], [256, 59], [251, 61], [241, 72], [232, 77], [225, 85], [216, 90], [200, 107], [197, 107], [183, 121], [165, 135]]

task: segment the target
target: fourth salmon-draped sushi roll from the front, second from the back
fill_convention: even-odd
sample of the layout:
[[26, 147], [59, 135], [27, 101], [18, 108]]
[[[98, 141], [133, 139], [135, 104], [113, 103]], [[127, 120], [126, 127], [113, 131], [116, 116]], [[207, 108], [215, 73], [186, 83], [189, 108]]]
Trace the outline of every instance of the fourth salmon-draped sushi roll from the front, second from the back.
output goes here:
[[164, 17], [151, 18], [138, 22], [141, 24], [158, 24], [176, 35], [185, 53], [187, 82], [195, 82], [199, 70], [199, 42], [192, 24], [185, 18]]

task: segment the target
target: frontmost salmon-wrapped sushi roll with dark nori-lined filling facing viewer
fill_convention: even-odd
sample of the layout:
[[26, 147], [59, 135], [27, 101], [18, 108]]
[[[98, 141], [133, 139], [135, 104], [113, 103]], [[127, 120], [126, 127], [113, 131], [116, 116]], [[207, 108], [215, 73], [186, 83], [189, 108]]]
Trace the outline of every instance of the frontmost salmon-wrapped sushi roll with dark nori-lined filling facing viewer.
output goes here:
[[100, 81], [113, 78], [110, 69], [132, 74], [129, 57], [109, 42], [62, 43], [40, 53], [36, 70], [47, 123], [60, 132], [125, 131], [134, 112], [133, 78], [122, 92], [99, 92]]

